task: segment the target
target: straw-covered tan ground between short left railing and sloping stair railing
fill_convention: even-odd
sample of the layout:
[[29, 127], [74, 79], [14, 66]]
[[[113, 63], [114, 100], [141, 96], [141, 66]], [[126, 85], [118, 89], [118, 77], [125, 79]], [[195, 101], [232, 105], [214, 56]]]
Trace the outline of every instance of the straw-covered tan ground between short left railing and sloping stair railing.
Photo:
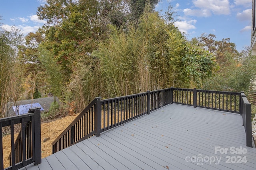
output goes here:
[[[41, 123], [41, 143], [42, 143], [42, 158], [52, 154], [52, 142], [62, 133], [66, 127], [76, 118], [78, 114], [66, 116], [47, 123]], [[16, 133], [14, 139], [16, 139]], [[43, 142], [45, 139], [48, 141]], [[11, 151], [10, 135], [3, 137], [3, 154], [4, 154], [4, 168], [7, 168], [10, 160], [8, 156]]]

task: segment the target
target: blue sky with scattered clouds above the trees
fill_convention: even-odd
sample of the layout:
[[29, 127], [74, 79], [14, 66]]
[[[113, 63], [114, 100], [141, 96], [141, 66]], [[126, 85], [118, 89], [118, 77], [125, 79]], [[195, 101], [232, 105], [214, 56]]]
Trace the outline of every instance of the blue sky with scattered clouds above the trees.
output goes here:
[[[45, 21], [38, 20], [37, 8], [46, 0], [0, 0], [2, 27], [18, 27], [24, 35], [36, 31]], [[191, 39], [212, 33], [217, 40], [230, 38], [238, 51], [250, 46], [252, 0], [160, 0], [162, 15], [169, 5], [178, 15], [175, 25]], [[162, 10], [162, 11], [161, 11]]]

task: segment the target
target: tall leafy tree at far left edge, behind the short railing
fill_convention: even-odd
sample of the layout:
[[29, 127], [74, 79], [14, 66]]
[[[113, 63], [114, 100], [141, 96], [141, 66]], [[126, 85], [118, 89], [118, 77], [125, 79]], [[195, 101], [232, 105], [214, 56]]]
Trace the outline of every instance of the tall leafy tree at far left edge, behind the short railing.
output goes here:
[[19, 30], [12, 27], [6, 31], [0, 27], [0, 117], [5, 117], [6, 104], [10, 98], [17, 102], [20, 98], [19, 70], [16, 69], [17, 46], [22, 42]]

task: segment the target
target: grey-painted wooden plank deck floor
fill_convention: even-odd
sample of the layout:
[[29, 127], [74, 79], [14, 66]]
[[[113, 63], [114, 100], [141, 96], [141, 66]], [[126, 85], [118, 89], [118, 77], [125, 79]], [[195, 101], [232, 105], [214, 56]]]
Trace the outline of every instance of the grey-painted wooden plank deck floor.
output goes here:
[[166, 168], [255, 170], [256, 149], [246, 147], [242, 116], [170, 104], [22, 169]]

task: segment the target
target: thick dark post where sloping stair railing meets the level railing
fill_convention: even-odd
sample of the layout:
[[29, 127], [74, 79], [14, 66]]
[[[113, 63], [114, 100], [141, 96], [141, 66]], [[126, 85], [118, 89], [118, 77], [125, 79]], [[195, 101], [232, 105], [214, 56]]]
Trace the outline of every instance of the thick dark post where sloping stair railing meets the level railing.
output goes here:
[[95, 98], [95, 133], [96, 137], [100, 137], [100, 132], [101, 132], [101, 102], [100, 99], [102, 97], [96, 97]]

